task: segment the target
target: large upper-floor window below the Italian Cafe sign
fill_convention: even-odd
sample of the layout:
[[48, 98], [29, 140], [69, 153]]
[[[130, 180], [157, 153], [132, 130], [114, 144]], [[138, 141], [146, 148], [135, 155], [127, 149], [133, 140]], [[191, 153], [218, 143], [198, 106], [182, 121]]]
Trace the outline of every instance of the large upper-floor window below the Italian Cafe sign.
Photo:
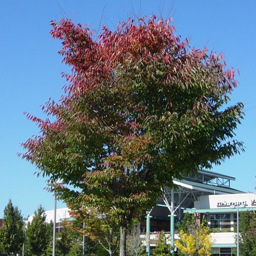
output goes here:
[[230, 231], [230, 214], [211, 214], [210, 228], [220, 231]]

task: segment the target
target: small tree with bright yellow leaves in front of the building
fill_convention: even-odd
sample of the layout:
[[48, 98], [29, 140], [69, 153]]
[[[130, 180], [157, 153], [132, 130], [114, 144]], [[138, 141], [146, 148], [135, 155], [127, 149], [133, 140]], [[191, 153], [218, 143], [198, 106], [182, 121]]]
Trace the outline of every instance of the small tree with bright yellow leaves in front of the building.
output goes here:
[[194, 216], [185, 214], [181, 224], [180, 238], [175, 241], [179, 253], [185, 256], [210, 256], [211, 236], [205, 222], [198, 225]]

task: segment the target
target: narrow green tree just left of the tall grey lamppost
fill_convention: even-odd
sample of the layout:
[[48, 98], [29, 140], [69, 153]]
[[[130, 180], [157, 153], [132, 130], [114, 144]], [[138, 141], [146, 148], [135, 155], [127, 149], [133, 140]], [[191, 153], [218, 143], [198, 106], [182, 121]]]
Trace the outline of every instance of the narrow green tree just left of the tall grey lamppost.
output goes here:
[[31, 224], [27, 224], [26, 231], [29, 249], [33, 255], [40, 256], [45, 252], [51, 239], [50, 230], [46, 222], [45, 210], [42, 205], [39, 205], [34, 212]]

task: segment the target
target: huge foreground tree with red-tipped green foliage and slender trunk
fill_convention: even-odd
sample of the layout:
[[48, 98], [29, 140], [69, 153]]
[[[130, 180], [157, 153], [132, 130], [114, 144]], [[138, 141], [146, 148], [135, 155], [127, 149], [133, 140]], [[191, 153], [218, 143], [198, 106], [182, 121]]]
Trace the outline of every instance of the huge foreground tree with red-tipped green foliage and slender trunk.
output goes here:
[[133, 219], [156, 204], [162, 186], [244, 150], [234, 140], [243, 104], [226, 107], [235, 70], [154, 15], [115, 31], [103, 26], [98, 41], [69, 19], [51, 25], [71, 74], [62, 73], [60, 103], [42, 107], [54, 121], [25, 113], [41, 135], [22, 143], [22, 157], [38, 175], [65, 182], [52, 189], [67, 203], [108, 214], [120, 226], [123, 256]]

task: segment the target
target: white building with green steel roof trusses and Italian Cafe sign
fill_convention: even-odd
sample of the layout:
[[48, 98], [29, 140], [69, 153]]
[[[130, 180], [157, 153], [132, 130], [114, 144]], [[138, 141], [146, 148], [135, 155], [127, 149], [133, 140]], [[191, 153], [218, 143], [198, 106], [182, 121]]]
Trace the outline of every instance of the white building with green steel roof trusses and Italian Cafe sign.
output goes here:
[[[228, 256], [236, 248], [234, 226], [237, 223], [237, 206], [245, 205], [240, 211], [256, 212], [256, 195], [231, 188], [235, 178], [219, 173], [199, 170], [197, 175], [184, 176], [175, 180], [175, 187], [163, 188], [163, 196], [147, 215], [146, 226], [150, 234], [150, 248], [155, 247], [157, 235], [161, 230], [171, 238], [180, 239], [175, 233], [176, 221], [180, 221], [186, 212], [194, 214], [200, 223], [202, 218], [208, 221], [213, 241], [212, 255]], [[235, 209], [231, 209], [230, 206]], [[174, 242], [171, 239], [171, 243]]]

